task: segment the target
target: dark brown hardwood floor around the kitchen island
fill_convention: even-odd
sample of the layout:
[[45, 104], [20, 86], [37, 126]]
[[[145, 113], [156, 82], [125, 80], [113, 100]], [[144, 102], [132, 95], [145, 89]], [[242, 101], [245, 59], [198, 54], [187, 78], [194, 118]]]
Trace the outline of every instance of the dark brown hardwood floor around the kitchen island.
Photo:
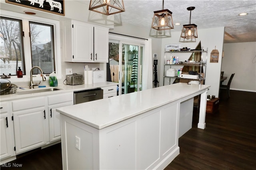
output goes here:
[[[256, 93], [231, 90], [228, 100], [225, 94], [220, 94], [219, 110], [206, 114], [206, 129], [197, 128], [198, 111], [194, 111], [192, 129], [179, 139], [180, 154], [165, 170], [256, 169]], [[1, 170], [61, 170], [60, 144], [9, 163]]]

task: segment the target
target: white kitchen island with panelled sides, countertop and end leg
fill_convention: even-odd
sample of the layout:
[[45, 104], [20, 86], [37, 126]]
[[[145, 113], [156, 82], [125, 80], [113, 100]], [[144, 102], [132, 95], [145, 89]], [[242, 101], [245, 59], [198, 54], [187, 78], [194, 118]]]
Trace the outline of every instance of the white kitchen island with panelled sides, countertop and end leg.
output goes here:
[[209, 87], [177, 83], [59, 107], [63, 169], [165, 168], [180, 153], [181, 103], [201, 94], [204, 129]]

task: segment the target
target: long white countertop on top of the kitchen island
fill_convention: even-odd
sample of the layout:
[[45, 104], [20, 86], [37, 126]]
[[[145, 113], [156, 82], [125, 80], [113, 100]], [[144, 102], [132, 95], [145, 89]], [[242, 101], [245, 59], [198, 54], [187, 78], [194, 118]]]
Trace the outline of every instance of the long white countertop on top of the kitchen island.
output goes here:
[[103, 129], [209, 87], [209, 85], [201, 84], [176, 83], [112, 98], [59, 107], [57, 111], [96, 129]]

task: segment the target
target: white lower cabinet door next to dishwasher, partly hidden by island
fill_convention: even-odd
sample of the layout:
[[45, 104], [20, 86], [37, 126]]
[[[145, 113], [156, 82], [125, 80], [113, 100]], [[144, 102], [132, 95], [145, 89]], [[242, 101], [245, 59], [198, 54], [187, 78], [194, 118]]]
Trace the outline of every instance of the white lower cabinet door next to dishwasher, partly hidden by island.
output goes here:
[[56, 108], [62, 106], [73, 105], [73, 102], [66, 102], [64, 104], [57, 104], [49, 107], [49, 130], [50, 130], [50, 142], [60, 139], [60, 113], [56, 111]]

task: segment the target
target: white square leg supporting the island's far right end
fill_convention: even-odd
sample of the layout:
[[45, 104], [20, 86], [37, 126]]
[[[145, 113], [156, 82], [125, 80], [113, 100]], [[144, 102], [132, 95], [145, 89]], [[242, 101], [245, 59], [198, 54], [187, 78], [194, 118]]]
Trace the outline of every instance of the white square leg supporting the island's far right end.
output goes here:
[[206, 102], [207, 102], [207, 90], [201, 94], [200, 98], [200, 110], [199, 110], [199, 122], [197, 127], [205, 129], [205, 114], [206, 114]]

